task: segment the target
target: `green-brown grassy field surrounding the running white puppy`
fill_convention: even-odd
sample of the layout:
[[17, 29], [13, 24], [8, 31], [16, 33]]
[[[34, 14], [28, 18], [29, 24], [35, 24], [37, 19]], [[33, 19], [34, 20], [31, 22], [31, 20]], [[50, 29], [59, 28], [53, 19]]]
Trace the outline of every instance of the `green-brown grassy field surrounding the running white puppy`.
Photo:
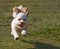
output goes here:
[[[30, 10], [28, 34], [10, 35], [12, 8]], [[60, 49], [60, 0], [0, 0], [0, 49]]]

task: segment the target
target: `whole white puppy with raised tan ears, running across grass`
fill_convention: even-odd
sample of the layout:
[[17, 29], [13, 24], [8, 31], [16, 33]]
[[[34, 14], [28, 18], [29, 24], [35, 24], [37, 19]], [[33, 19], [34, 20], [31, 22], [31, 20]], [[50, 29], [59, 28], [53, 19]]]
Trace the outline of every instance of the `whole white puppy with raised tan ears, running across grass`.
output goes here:
[[17, 29], [21, 30], [21, 34], [23, 36], [26, 35], [27, 33], [27, 24], [28, 24], [28, 20], [27, 20], [27, 8], [17, 8], [14, 7], [13, 8], [13, 17], [14, 19], [12, 20], [11, 23], [11, 35], [13, 35], [14, 40], [16, 40], [19, 36], [17, 33]]

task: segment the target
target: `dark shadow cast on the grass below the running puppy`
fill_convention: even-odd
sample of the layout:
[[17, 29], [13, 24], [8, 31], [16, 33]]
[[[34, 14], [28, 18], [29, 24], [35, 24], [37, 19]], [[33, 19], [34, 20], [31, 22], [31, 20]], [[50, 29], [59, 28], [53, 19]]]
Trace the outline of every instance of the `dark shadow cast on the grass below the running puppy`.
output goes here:
[[51, 44], [45, 44], [45, 43], [40, 43], [40, 42], [35, 42], [35, 41], [26, 41], [26, 40], [22, 40], [22, 41], [35, 45], [34, 48], [28, 48], [28, 49], [60, 49], [60, 47], [56, 47]]

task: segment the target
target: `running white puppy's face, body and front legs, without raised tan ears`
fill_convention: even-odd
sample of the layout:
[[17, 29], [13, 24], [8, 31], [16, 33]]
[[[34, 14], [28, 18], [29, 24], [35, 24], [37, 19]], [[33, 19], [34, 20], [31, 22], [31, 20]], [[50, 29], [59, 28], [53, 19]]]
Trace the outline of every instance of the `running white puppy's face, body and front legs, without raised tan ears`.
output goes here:
[[16, 40], [19, 36], [17, 33], [17, 29], [21, 30], [22, 35], [26, 35], [27, 33], [27, 15], [24, 13], [19, 13], [16, 17], [12, 20], [11, 23], [11, 34], [14, 36], [14, 40]]

